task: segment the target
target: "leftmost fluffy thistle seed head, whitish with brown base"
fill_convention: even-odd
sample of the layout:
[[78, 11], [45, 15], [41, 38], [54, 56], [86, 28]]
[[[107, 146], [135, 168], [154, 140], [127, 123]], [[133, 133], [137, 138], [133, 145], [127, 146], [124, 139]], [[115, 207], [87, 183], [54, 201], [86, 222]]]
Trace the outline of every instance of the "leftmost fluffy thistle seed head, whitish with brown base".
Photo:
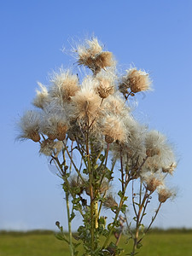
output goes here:
[[27, 111], [18, 124], [21, 132], [18, 139], [32, 139], [33, 142], [38, 143], [40, 141], [39, 124], [40, 114], [32, 110]]

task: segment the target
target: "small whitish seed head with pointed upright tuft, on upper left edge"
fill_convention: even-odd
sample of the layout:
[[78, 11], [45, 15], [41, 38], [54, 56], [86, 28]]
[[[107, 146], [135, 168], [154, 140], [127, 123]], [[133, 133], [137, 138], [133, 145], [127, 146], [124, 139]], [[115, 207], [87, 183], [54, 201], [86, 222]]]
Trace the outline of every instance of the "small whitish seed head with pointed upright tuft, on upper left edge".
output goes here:
[[49, 102], [49, 93], [43, 84], [38, 82], [38, 86], [40, 87], [40, 90], [36, 90], [37, 95], [32, 104], [38, 108], [44, 108], [44, 105]]

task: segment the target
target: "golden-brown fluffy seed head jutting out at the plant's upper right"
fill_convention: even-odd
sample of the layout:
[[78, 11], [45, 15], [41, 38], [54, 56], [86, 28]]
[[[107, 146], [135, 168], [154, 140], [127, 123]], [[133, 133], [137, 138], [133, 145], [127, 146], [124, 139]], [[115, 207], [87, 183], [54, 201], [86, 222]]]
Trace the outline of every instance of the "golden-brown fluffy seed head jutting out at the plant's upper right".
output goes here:
[[148, 73], [131, 68], [127, 70], [127, 74], [122, 78], [119, 84], [119, 90], [125, 95], [129, 88], [131, 92], [137, 93], [143, 90], [150, 89], [151, 81], [148, 79]]

